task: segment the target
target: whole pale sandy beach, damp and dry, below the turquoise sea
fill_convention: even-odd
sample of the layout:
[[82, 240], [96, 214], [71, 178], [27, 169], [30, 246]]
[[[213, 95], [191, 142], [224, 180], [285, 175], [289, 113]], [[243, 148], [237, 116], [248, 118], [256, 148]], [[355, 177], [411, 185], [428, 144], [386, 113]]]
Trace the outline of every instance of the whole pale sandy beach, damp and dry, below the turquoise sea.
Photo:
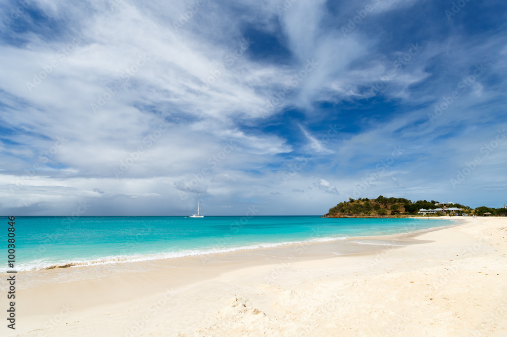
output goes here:
[[0, 331], [506, 336], [507, 218], [459, 220], [350, 256], [325, 243], [18, 273], [17, 328]]

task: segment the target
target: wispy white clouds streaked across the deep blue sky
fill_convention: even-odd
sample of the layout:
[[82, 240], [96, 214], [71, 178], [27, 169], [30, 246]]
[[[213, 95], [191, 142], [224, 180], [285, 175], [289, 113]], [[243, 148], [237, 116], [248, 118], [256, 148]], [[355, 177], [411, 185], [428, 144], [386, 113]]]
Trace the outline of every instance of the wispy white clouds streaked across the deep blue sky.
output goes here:
[[[379, 20], [389, 11], [415, 3], [381, 2], [372, 15]], [[269, 209], [266, 212], [279, 214], [286, 207], [283, 209], [287, 214], [292, 214], [291, 205], [314, 198], [301, 209], [312, 214], [315, 212], [311, 209], [322, 205], [327, 209], [325, 197], [329, 195], [325, 194], [337, 195], [338, 189], [323, 179], [314, 186], [324, 193], [294, 193], [304, 191], [298, 187], [310, 186], [315, 177], [329, 177], [344, 195], [350, 193], [365, 174], [375, 172], [375, 165], [390, 155], [393, 146], [400, 145], [406, 152], [386, 168], [367, 193], [426, 191], [454, 199], [454, 190], [448, 191], [445, 185], [448, 178], [478, 154], [484, 142], [494, 136], [493, 129], [504, 125], [498, 112], [504, 105], [503, 81], [485, 80], [489, 74], [505, 77], [505, 58], [490, 58], [495, 55], [495, 48], [498, 54], [506, 50], [505, 39], [497, 36], [484, 34], [468, 41], [466, 36], [455, 35], [452, 39], [426, 41], [420, 53], [394, 77], [385, 80], [381, 93], [371, 95], [393, 104], [401, 101], [405, 104], [403, 111], [390, 115], [393, 112], [386, 110], [382, 112], [385, 118], [373, 119], [358, 114], [354, 117], [360, 121], [358, 131], [345, 130], [324, 143], [309, 131], [330, 117], [316, 106], [322, 102], [336, 106], [352, 103], [332, 112], [336, 114], [333, 117], [343, 118], [346, 126], [350, 111], [355, 109], [354, 113], [358, 113], [363, 108], [356, 105], [363, 102], [356, 100], [364, 95], [365, 88], [385, 75], [410, 44], [384, 51], [377, 37], [361, 32], [366, 24], [354, 34], [343, 36], [339, 29], [330, 28], [328, 21], [337, 18], [329, 17], [323, 1], [295, 2], [280, 17], [276, 8], [279, 1], [261, 5], [243, 2], [235, 5], [238, 7], [234, 15], [228, 4], [209, 2], [177, 31], [172, 23], [192, 2], [132, 1], [113, 8], [95, 1], [36, 4], [49, 19], [57, 19], [55, 24], [61, 29], [55, 29], [51, 38], [25, 32], [18, 36], [23, 38], [23, 44], [2, 45], [0, 119], [6, 128], [0, 143], [0, 164], [5, 170], [0, 175], [3, 210], [23, 209], [32, 214], [72, 212], [77, 202], [90, 199], [103, 203], [103, 208], [95, 205], [95, 210], [90, 211], [94, 214], [105, 212], [107, 207], [112, 212], [146, 209], [150, 213], [155, 207], [156, 212], [187, 214], [195, 207], [193, 194], [181, 200], [178, 191], [185, 191], [186, 184], [201, 174], [203, 177], [194, 183], [192, 192], [206, 193], [206, 202], [217, 209], [233, 204], [232, 211], [249, 198], [265, 200], [265, 209]], [[340, 18], [346, 18], [347, 13], [355, 15], [363, 5], [343, 6], [350, 12], [341, 11]], [[374, 24], [374, 20], [369, 22]], [[2, 25], [3, 29], [10, 29], [5, 23]], [[260, 62], [247, 50], [232, 64], [227, 63], [228, 55], [241, 46], [245, 25], [281, 34], [292, 53], [290, 60], [285, 64]], [[61, 59], [59, 51], [73, 43], [78, 33], [82, 36], [79, 43]], [[99, 96], [103, 98], [107, 88], [114, 86], [125, 69], [135, 66], [139, 55], [144, 54], [149, 58], [146, 65], [93, 113], [90, 104], [96, 103]], [[444, 56], [450, 63], [438, 64], [452, 71], [446, 72], [445, 80], [432, 80], [442, 72], [432, 67], [433, 62]], [[315, 69], [259, 121], [259, 111], [266, 101], [276, 97], [312, 59], [318, 63]], [[45, 71], [43, 67], [47, 68], [53, 60], [58, 65], [30, 92], [26, 82], [33, 81], [34, 74]], [[470, 68], [483, 60], [489, 60], [484, 61], [486, 75], [462, 93], [437, 122], [429, 123], [427, 113], [436, 101], [449, 95], [470, 74]], [[217, 72], [222, 65], [225, 68]], [[211, 85], [206, 83], [210, 76]], [[430, 85], [421, 85], [428, 80], [432, 80]], [[421, 87], [414, 95], [413, 87], [418, 85]], [[305, 135], [303, 146], [286, 134], [293, 122], [291, 117], [276, 118], [289, 109], [299, 109], [310, 117], [308, 126], [299, 125]], [[166, 120], [164, 131], [162, 119]], [[277, 123], [286, 129], [278, 132]], [[460, 129], [463, 125], [466, 128]], [[296, 123], [294, 127], [296, 130], [292, 131], [299, 132]], [[449, 136], [453, 132], [456, 135]], [[68, 141], [55, 153], [45, 154], [53, 151], [58, 137]], [[232, 144], [232, 149], [226, 148], [227, 144]], [[137, 155], [140, 147], [142, 153]], [[442, 149], [447, 150], [445, 155]], [[285, 185], [279, 179], [285, 168], [283, 163], [301, 157], [305, 151], [314, 157]], [[492, 185], [491, 177], [502, 179], [498, 172], [505, 163], [502, 158], [505, 150], [498, 147], [478, 167], [478, 174], [467, 178], [468, 186], [483, 188]], [[113, 170], [127, 160], [132, 164], [117, 179]], [[439, 172], [440, 177], [431, 175], [428, 179], [428, 166], [424, 163], [430, 163], [431, 171]], [[16, 182], [34, 164], [39, 168], [22, 188], [16, 189]], [[502, 184], [498, 181], [498, 186]], [[463, 186], [457, 189], [465, 191]], [[9, 187], [14, 187], [15, 192], [11, 193]], [[280, 194], [273, 194], [274, 191]], [[309, 187], [307, 191], [314, 192], [316, 188]], [[133, 198], [137, 204], [129, 203]], [[125, 205], [117, 206], [120, 201]]]

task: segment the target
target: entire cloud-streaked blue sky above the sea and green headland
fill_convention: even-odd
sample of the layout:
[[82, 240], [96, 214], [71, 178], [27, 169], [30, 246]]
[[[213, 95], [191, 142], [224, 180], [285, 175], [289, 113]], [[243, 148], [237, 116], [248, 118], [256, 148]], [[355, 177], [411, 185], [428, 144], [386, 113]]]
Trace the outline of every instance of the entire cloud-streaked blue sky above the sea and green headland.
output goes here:
[[23, 0], [0, 19], [2, 215], [507, 202], [504, 0]]

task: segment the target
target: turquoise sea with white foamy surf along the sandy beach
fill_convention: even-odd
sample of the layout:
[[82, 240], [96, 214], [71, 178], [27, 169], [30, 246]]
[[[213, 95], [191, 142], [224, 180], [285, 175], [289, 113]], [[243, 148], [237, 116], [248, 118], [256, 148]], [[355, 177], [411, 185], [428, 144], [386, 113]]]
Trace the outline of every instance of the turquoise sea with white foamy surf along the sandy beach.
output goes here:
[[[2, 217], [7, 225], [7, 217]], [[175, 258], [306, 241], [408, 233], [450, 225], [427, 219], [247, 217], [16, 217], [15, 269]], [[6, 267], [0, 271], [7, 270]]]

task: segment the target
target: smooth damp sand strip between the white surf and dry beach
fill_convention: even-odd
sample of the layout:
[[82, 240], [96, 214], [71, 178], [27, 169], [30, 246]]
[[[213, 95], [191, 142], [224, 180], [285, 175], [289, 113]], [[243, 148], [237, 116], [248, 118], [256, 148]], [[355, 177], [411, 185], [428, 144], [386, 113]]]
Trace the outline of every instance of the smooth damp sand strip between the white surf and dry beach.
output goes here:
[[[444, 218], [444, 217], [442, 217]], [[420, 219], [420, 218], [415, 218]], [[435, 220], [435, 217], [428, 217], [428, 219]], [[449, 220], [449, 219], [440, 219]], [[51, 282], [42, 282], [33, 284], [28, 282], [29, 287], [36, 285], [46, 285], [45, 283], [64, 283], [75, 280], [87, 280], [89, 278], [103, 278], [108, 275], [114, 275], [118, 272], [127, 271], [139, 271], [146, 270], [147, 266], [150, 270], [160, 268], [182, 268], [182, 267], [204, 267], [205, 265], [213, 265], [227, 268], [237, 268], [239, 265], [265, 265], [271, 263], [277, 263], [286, 259], [291, 254], [301, 261], [321, 260], [330, 259], [336, 256], [355, 256], [364, 254], [374, 254], [375, 252], [386, 249], [390, 246], [403, 247], [411, 244], [419, 244], [416, 238], [417, 236], [423, 235], [424, 233], [439, 231], [445, 228], [452, 228], [461, 225], [457, 223], [448, 224], [445, 226], [430, 227], [424, 229], [412, 230], [404, 233], [386, 234], [386, 235], [372, 235], [372, 236], [351, 236], [343, 238], [335, 238], [325, 241], [312, 241], [313, 239], [304, 240], [295, 243], [279, 243], [274, 246], [268, 247], [256, 247], [256, 248], [239, 248], [232, 251], [225, 252], [212, 252], [206, 254], [186, 255], [182, 257], [171, 257], [171, 258], [156, 258], [146, 259], [139, 261], [115, 261], [115, 262], [104, 262], [96, 264], [78, 264], [78, 265], [67, 265], [67, 267], [53, 267], [53, 268], [41, 268], [38, 270], [29, 271], [18, 271], [17, 274], [22, 277], [26, 277], [29, 280], [34, 279], [35, 282], [38, 280], [39, 275], [45, 274], [50, 275]], [[378, 244], [369, 244], [362, 250], [358, 250], [357, 245], [348, 246], [347, 244], [355, 244], [357, 241], [368, 241], [374, 240]], [[336, 245], [340, 245], [341, 248], [346, 250], [341, 254], [333, 252]], [[269, 262], [269, 263], [268, 263]], [[68, 272], [67, 272], [68, 271]], [[91, 276], [90, 276], [91, 275]], [[23, 286], [20, 286], [23, 288]]]

